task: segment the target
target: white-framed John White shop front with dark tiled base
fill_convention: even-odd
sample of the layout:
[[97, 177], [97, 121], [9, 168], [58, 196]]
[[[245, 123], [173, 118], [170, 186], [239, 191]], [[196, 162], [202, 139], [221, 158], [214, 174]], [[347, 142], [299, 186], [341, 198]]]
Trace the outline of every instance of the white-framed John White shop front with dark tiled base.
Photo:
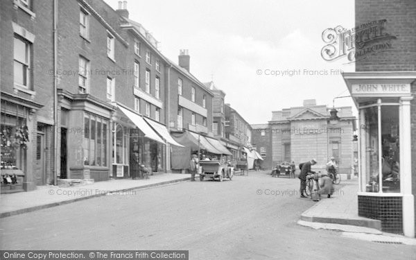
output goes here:
[[410, 101], [416, 73], [344, 73], [358, 108], [358, 215], [415, 236]]

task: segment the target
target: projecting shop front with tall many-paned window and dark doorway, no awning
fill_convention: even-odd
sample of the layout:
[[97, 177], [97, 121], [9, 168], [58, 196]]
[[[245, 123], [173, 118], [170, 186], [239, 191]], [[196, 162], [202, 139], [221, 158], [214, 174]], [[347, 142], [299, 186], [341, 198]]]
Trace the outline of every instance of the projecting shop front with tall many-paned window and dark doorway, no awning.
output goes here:
[[[114, 107], [89, 94], [58, 89], [60, 179], [108, 180]], [[64, 159], [64, 160], [62, 160]]]

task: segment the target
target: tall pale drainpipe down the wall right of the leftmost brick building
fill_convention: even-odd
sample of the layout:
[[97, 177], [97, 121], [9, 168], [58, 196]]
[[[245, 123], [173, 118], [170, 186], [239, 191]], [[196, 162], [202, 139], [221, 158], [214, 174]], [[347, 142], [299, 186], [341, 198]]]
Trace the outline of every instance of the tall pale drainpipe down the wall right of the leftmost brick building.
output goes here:
[[58, 0], [53, 0], [53, 184], [58, 184]]

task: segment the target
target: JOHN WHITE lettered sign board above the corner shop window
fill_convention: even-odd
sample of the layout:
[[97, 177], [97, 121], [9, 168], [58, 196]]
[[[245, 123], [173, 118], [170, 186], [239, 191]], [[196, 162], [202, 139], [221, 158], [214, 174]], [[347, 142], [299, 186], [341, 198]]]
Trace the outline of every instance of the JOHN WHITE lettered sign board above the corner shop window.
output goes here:
[[365, 94], [410, 94], [410, 84], [352, 84], [353, 95]]

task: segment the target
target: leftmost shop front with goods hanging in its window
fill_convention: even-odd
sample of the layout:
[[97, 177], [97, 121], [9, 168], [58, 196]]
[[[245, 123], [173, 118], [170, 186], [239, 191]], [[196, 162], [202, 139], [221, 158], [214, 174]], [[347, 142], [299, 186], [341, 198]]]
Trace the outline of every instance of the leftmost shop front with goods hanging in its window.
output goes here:
[[37, 184], [32, 165], [42, 155], [35, 131], [35, 111], [42, 105], [1, 94], [1, 193], [31, 191]]

